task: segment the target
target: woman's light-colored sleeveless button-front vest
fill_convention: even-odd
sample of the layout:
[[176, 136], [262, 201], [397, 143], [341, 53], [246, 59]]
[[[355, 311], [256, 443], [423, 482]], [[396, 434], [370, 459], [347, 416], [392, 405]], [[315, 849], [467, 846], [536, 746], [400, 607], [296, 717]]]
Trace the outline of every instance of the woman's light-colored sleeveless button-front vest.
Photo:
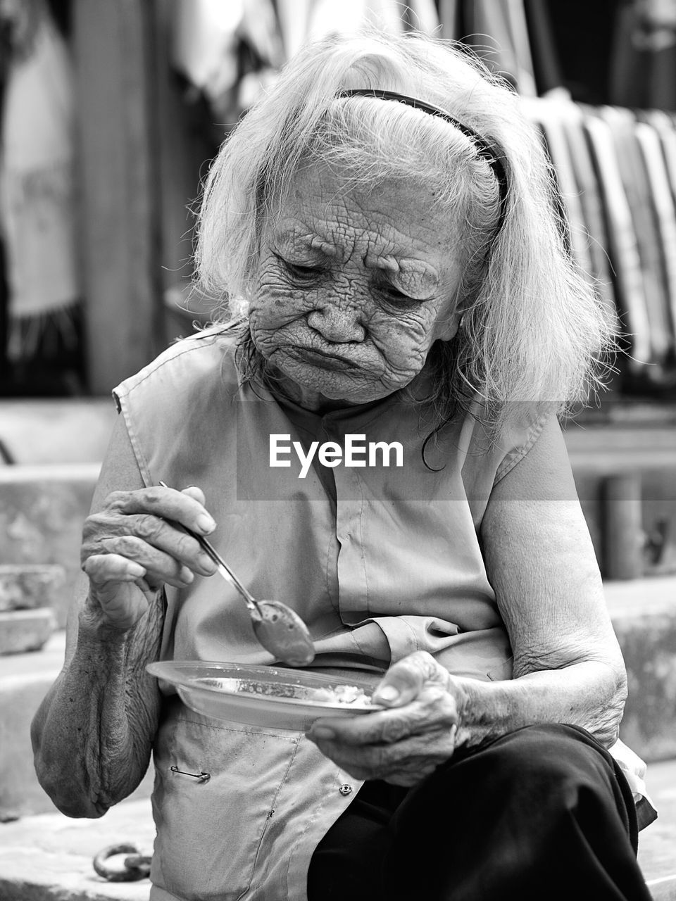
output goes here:
[[[425, 466], [431, 428], [421, 405], [392, 396], [307, 413], [263, 387], [238, 387], [233, 338], [215, 331], [178, 342], [114, 394], [144, 482], [204, 490], [217, 523], [210, 540], [254, 596], [303, 617], [315, 666], [376, 681], [390, 662], [425, 650], [458, 675], [510, 678], [479, 530], [494, 482], [542, 423], [495, 445], [474, 419], [459, 419], [428, 442]], [[388, 467], [315, 462], [298, 478], [293, 451], [288, 467], [269, 465], [270, 435], [307, 448], [346, 434], [399, 441], [404, 465], [392, 454]], [[218, 577], [167, 597], [162, 659], [274, 662]], [[154, 753], [153, 901], [304, 901], [312, 851], [358, 780], [302, 734], [216, 722], [169, 693]]]

